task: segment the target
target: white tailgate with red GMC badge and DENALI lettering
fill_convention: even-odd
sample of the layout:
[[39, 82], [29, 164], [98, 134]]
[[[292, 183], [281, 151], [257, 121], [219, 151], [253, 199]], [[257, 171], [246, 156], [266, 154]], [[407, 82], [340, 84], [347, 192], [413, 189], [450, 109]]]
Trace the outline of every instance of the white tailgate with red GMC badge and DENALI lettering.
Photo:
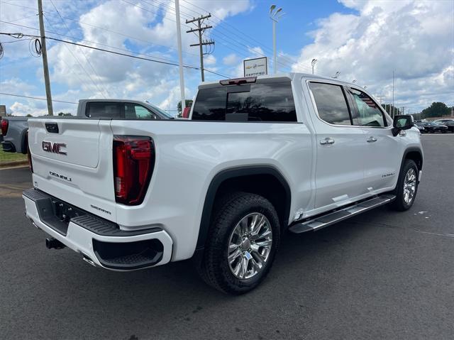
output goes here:
[[28, 126], [33, 186], [115, 221], [110, 121], [46, 118]]

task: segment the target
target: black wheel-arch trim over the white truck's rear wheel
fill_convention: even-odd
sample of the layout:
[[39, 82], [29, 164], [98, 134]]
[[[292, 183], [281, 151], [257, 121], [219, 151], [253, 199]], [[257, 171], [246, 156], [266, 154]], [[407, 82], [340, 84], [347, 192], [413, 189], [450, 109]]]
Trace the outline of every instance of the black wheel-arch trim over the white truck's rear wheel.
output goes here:
[[208, 236], [208, 231], [211, 221], [211, 212], [213, 210], [214, 199], [216, 198], [216, 193], [219, 186], [225, 180], [234, 178], [234, 177], [243, 177], [250, 175], [272, 175], [274, 176], [282, 187], [286, 194], [286, 204], [285, 204], [285, 217], [284, 224], [287, 226], [288, 218], [290, 214], [290, 205], [292, 204], [292, 193], [290, 191], [289, 184], [285, 177], [282, 175], [277, 168], [271, 165], [245, 165], [240, 167], [228, 168], [221, 170], [216, 175], [214, 175], [211, 183], [208, 187], [208, 190], [205, 195], [204, 208], [201, 214], [199, 237], [197, 238], [196, 251], [203, 250], [205, 246], [206, 237]]

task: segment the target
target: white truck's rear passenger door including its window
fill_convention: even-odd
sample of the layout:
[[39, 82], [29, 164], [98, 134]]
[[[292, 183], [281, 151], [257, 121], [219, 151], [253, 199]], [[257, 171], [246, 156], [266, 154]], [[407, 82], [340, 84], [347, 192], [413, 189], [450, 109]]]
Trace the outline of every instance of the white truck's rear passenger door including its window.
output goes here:
[[315, 209], [333, 208], [364, 194], [364, 131], [353, 126], [351, 102], [341, 85], [309, 82], [316, 131]]

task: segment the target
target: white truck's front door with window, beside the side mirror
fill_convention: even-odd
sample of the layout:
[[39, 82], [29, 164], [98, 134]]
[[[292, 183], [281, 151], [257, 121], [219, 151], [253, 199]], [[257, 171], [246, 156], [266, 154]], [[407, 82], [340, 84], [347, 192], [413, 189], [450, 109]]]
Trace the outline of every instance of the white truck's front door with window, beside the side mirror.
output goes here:
[[351, 87], [348, 94], [353, 99], [353, 124], [365, 133], [361, 142], [365, 190], [372, 192], [392, 187], [399, 175], [401, 139], [406, 138], [405, 132], [392, 135], [392, 126], [384, 111], [368, 94]]

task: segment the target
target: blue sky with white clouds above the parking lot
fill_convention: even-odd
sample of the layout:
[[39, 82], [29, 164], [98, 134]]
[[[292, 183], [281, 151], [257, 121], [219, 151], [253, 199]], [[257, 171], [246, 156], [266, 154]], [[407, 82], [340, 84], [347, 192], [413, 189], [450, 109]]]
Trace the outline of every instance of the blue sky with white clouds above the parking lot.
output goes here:
[[[315, 57], [316, 74], [330, 77], [339, 71], [341, 79], [357, 79], [390, 102], [394, 70], [397, 106], [416, 112], [431, 102], [454, 104], [454, 1], [448, 0], [180, 0], [184, 63], [199, 64], [197, 48], [189, 47], [196, 36], [184, 33], [192, 24], [184, 21], [211, 12], [214, 16], [207, 23], [214, 28], [206, 38], [214, 39], [216, 48], [204, 58], [206, 69], [236, 77], [242, 73], [243, 59], [262, 55], [270, 57], [272, 66], [271, 4], [286, 13], [277, 25], [279, 71], [310, 72]], [[0, 31], [37, 35], [36, 6], [35, 0], [0, 0]], [[173, 1], [43, 0], [43, 9], [49, 37], [178, 60]], [[0, 42], [0, 92], [45, 97], [42, 61], [31, 55], [30, 40], [0, 35]], [[178, 67], [52, 40], [48, 55], [55, 100], [131, 98], [176, 109]], [[186, 97], [192, 98], [200, 72], [185, 70], [184, 75]], [[218, 79], [221, 76], [206, 72], [206, 80]], [[62, 102], [54, 103], [55, 111], [75, 112], [77, 105]], [[16, 115], [45, 114], [45, 101], [0, 94], [0, 103]]]

